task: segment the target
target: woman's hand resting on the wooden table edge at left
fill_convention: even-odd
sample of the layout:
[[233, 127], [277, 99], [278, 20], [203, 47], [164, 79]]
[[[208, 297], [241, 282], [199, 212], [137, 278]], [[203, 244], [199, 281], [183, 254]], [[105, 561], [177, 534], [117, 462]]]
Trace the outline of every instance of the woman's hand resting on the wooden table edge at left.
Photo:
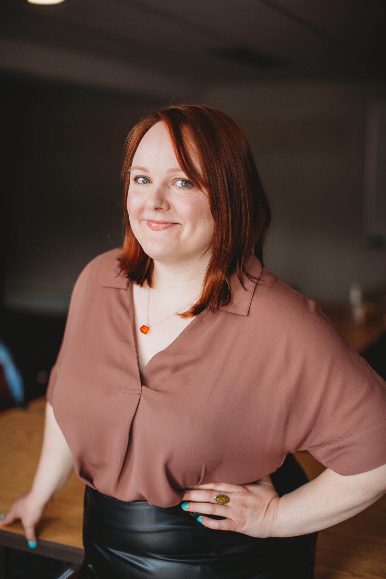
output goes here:
[[31, 490], [27, 493], [20, 494], [10, 506], [9, 511], [6, 512], [5, 516], [0, 520], [0, 527], [5, 527], [20, 519], [24, 527], [28, 545], [34, 548], [38, 544], [35, 527], [42, 518], [47, 504], [42, 504], [42, 501], [39, 501]]

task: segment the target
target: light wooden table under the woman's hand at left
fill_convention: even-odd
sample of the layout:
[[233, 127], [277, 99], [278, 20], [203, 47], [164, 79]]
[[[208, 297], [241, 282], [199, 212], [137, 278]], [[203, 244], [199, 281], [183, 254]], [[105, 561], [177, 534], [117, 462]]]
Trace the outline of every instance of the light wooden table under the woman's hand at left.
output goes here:
[[[0, 512], [6, 513], [13, 501], [31, 488], [44, 419], [44, 397], [35, 399], [26, 409], [8, 409], [0, 414]], [[60, 559], [76, 569], [83, 559], [83, 493], [84, 483], [73, 471], [36, 526], [38, 545], [34, 549], [28, 547], [21, 521], [0, 529], [0, 545]], [[3, 565], [0, 577], [4, 577]]]

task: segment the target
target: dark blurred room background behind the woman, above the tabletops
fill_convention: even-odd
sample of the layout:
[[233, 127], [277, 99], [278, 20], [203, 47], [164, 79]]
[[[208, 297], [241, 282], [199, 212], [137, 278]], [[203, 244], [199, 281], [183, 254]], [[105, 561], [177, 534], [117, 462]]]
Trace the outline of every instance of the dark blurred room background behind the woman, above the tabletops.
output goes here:
[[2, 0], [0, 405], [46, 390], [76, 277], [122, 243], [127, 133], [189, 100], [241, 124], [264, 266], [386, 377], [382, 0]]

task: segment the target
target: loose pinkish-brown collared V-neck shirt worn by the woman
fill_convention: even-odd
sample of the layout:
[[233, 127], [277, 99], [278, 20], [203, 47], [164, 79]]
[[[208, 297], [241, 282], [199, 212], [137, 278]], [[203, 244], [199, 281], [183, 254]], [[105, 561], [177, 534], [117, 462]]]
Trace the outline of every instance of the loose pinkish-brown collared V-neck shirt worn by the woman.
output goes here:
[[342, 475], [386, 463], [386, 382], [314, 300], [251, 255], [229, 305], [198, 314], [139, 372], [122, 248], [73, 287], [47, 400], [78, 477], [124, 501], [249, 483], [308, 450]]

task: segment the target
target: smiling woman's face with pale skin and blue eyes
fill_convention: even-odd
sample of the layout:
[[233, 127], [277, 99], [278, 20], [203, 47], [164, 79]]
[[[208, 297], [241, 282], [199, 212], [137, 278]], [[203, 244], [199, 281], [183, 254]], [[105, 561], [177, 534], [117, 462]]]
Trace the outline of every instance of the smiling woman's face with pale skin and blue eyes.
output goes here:
[[[201, 174], [195, 158], [193, 162]], [[214, 220], [207, 193], [196, 189], [179, 167], [161, 122], [148, 130], [135, 151], [127, 211], [138, 243], [156, 261], [199, 259], [212, 243]]]

